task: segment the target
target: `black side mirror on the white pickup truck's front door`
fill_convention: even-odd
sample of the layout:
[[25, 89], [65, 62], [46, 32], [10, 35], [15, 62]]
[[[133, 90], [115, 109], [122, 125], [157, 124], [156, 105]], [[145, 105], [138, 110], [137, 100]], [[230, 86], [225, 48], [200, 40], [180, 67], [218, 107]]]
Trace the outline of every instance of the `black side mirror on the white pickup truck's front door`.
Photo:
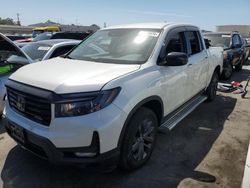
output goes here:
[[171, 52], [160, 65], [162, 66], [182, 66], [188, 62], [188, 56], [182, 52]]

